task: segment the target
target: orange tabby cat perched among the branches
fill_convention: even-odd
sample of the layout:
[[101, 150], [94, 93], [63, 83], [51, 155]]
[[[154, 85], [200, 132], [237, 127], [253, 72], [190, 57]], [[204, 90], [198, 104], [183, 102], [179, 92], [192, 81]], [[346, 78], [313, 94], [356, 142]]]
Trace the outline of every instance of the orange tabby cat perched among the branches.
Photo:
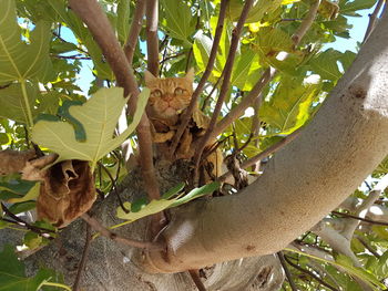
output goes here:
[[[186, 75], [182, 77], [165, 79], [156, 77], [149, 71], [145, 71], [144, 81], [146, 87], [151, 91], [146, 112], [153, 125], [153, 142], [159, 145], [159, 152], [163, 155], [170, 149], [171, 141], [180, 126], [182, 113], [191, 102], [194, 70], [188, 70]], [[193, 157], [195, 148], [193, 148], [192, 143], [205, 134], [208, 123], [210, 117], [196, 107], [187, 128], [182, 135], [175, 159], [191, 159]], [[215, 141], [210, 142], [207, 149], [214, 143]], [[164, 156], [167, 157], [167, 155]], [[207, 170], [211, 173], [207, 173], [206, 176], [210, 176], [210, 178], [206, 178], [206, 180], [219, 176], [223, 163], [221, 150], [216, 149], [210, 154], [206, 157], [206, 162], [208, 162], [207, 164], [213, 164], [211, 169]]]

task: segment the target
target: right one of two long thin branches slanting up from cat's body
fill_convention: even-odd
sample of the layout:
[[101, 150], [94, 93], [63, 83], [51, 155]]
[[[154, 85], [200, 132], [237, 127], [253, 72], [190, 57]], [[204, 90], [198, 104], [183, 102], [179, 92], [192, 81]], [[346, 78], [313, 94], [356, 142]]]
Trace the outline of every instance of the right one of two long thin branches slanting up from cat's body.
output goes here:
[[[217, 100], [217, 103], [215, 105], [215, 108], [214, 108], [214, 112], [212, 115], [212, 119], [208, 124], [208, 128], [206, 129], [205, 135], [201, 138], [201, 143], [198, 143], [196, 145], [196, 148], [195, 148], [194, 165], [195, 165], [195, 173], [196, 174], [197, 174], [198, 165], [201, 162], [202, 153], [203, 153], [207, 142], [210, 141], [211, 134], [214, 129], [215, 123], [217, 122], [218, 115], [221, 113], [221, 108], [224, 104], [224, 100], [226, 97], [227, 91], [229, 90], [232, 70], [233, 70], [233, 64], [234, 64], [234, 60], [236, 56], [239, 37], [242, 34], [242, 30], [244, 28], [244, 23], [245, 23], [247, 15], [248, 15], [248, 12], [251, 10], [252, 4], [253, 4], [253, 0], [245, 1], [242, 14], [239, 15], [239, 19], [237, 21], [237, 25], [232, 32], [231, 48], [229, 48], [229, 52], [228, 52], [226, 63], [225, 63], [225, 66], [223, 70], [224, 71], [224, 80], [223, 80], [223, 83], [221, 85], [218, 100]], [[196, 175], [194, 174], [194, 180], [196, 180], [195, 176]]]

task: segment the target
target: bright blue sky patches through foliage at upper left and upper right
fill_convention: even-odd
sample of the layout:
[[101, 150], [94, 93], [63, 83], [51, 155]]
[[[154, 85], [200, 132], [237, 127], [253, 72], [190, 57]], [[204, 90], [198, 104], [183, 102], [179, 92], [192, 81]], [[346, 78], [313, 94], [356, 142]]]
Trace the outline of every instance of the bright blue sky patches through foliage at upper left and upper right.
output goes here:
[[[343, 39], [337, 38], [337, 41], [334, 43], [328, 44], [326, 48], [334, 48], [338, 51], [346, 51], [351, 50], [356, 52], [357, 42], [361, 42], [364, 39], [364, 34], [366, 31], [366, 28], [368, 25], [368, 14], [372, 12], [374, 9], [369, 10], [361, 10], [358, 11], [359, 14], [361, 14], [360, 18], [348, 18], [348, 23], [353, 24], [353, 29], [350, 30], [350, 39]], [[71, 42], [75, 42], [75, 38], [72, 35], [72, 33], [69, 31], [64, 31], [65, 34], [63, 35], [67, 40]], [[94, 76], [92, 74], [93, 63], [92, 61], [83, 61], [82, 62], [82, 70], [79, 74], [76, 84], [81, 87], [81, 90], [86, 94], [90, 87], [90, 83], [94, 80]]]

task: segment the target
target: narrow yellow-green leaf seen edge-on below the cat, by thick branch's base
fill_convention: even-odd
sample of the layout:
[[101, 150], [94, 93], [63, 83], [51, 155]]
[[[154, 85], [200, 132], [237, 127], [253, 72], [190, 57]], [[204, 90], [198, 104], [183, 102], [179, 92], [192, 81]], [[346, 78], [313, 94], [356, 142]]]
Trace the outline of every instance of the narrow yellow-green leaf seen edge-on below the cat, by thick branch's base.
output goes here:
[[[116, 210], [116, 216], [121, 219], [129, 220], [130, 222], [133, 222], [140, 218], [157, 214], [160, 211], [163, 211], [164, 209], [176, 207], [182, 204], [186, 204], [190, 200], [193, 200], [195, 198], [198, 198], [201, 196], [212, 194], [214, 190], [216, 190], [219, 187], [219, 183], [211, 183], [207, 184], [201, 188], [195, 188], [192, 191], [190, 191], [187, 195], [184, 195], [183, 197], [175, 197], [172, 199], [161, 198], [159, 200], [151, 200], [150, 204], [143, 206], [140, 211], [137, 212], [129, 212], [126, 214], [121, 207]], [[165, 195], [162, 197], [169, 197], [171, 198], [174, 193], [178, 193], [183, 188], [183, 185], [180, 184], [176, 187], [169, 190]], [[124, 207], [126, 209], [131, 209], [132, 205], [131, 202], [124, 202]], [[114, 228], [114, 227], [113, 227]]]

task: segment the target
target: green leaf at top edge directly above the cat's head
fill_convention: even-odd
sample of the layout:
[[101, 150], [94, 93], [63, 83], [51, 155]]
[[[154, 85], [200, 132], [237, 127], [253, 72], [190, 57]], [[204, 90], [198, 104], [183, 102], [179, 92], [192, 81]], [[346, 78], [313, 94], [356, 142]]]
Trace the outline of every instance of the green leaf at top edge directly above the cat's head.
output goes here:
[[187, 39], [194, 33], [195, 27], [191, 22], [190, 7], [180, 0], [162, 0], [161, 4], [165, 11], [165, 29], [169, 34], [191, 46]]

